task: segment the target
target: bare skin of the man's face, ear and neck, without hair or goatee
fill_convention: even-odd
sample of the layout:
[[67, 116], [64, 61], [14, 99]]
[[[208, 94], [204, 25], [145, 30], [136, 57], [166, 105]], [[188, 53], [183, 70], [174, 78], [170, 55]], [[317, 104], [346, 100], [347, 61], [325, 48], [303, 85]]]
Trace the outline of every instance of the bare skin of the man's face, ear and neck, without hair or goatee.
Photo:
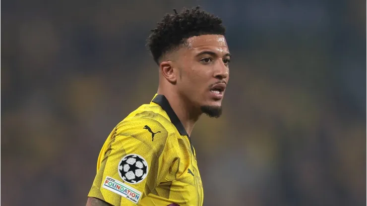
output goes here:
[[189, 135], [202, 106], [222, 106], [222, 99], [213, 98], [210, 89], [228, 83], [229, 62], [223, 35], [191, 37], [161, 58], [158, 94], [166, 96]]

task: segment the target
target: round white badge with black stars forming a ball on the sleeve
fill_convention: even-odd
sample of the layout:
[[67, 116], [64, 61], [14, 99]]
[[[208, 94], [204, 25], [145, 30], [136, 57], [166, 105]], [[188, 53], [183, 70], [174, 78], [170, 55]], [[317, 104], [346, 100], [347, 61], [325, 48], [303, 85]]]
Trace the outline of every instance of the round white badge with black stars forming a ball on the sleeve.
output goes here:
[[127, 154], [119, 162], [118, 170], [123, 181], [130, 184], [137, 184], [147, 176], [148, 163], [138, 154]]

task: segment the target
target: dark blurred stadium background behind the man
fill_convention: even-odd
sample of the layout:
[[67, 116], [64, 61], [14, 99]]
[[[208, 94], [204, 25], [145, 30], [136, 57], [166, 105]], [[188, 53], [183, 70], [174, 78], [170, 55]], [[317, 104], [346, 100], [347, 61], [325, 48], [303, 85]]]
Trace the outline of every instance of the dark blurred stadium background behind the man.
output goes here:
[[191, 136], [204, 205], [366, 204], [366, 1], [5, 0], [1, 205], [85, 205], [105, 139], [156, 92], [150, 29], [198, 4], [233, 53], [223, 117]]

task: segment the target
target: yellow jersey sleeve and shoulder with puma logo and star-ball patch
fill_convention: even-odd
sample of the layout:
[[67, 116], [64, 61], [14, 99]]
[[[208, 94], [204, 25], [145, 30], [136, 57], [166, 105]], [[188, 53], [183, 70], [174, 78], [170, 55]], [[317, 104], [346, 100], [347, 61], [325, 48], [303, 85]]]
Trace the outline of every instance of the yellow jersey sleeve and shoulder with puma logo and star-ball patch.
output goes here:
[[135, 206], [169, 173], [169, 133], [153, 119], [121, 122], [100, 154], [100, 166], [88, 197], [113, 206]]

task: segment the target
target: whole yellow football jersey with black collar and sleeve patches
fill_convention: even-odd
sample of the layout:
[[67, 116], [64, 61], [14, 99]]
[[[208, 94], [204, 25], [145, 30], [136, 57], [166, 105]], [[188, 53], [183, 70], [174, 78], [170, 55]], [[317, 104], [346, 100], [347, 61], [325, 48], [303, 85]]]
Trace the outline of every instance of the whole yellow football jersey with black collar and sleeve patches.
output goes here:
[[156, 94], [113, 129], [88, 197], [113, 206], [202, 206], [195, 150], [165, 96]]

